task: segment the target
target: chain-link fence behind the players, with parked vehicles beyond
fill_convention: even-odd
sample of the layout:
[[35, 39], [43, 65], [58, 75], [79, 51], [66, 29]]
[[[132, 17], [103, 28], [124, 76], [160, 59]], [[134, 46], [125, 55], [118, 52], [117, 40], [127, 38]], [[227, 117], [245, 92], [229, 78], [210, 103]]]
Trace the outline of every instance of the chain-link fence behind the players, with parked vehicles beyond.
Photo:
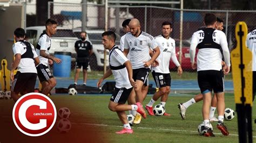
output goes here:
[[[82, 4], [49, 3], [48, 17], [54, 18], [62, 27], [72, 29], [79, 35], [82, 26]], [[109, 5], [108, 27], [118, 35], [123, 35], [122, 22], [127, 18], [137, 18], [140, 21], [141, 30], [153, 35], [161, 34], [161, 24], [165, 21], [173, 23], [171, 37], [176, 40], [176, 54], [181, 62], [181, 67], [186, 71], [191, 69], [189, 47], [193, 32], [196, 32], [203, 25], [204, 15], [213, 12], [224, 20], [224, 32], [227, 36], [230, 51], [235, 47], [235, 24], [239, 21], [247, 23], [248, 31], [255, 28], [256, 11], [226, 11], [226, 10], [183, 10], [183, 30], [181, 50], [180, 40], [180, 9], [163, 8], [157, 6], [127, 6]], [[90, 67], [93, 70], [103, 70], [104, 48], [101, 44], [101, 33], [104, 32], [105, 6], [87, 4], [86, 31], [93, 44], [93, 55], [91, 56]], [[74, 41], [75, 43], [75, 41]], [[74, 50], [75, 52], [75, 50]], [[107, 56], [108, 57], [108, 56]], [[106, 58], [108, 60], [108, 58]], [[107, 63], [107, 62], [106, 62]], [[75, 64], [75, 62], [73, 63]], [[74, 65], [73, 65], [74, 66]], [[170, 69], [175, 70], [171, 62]]]

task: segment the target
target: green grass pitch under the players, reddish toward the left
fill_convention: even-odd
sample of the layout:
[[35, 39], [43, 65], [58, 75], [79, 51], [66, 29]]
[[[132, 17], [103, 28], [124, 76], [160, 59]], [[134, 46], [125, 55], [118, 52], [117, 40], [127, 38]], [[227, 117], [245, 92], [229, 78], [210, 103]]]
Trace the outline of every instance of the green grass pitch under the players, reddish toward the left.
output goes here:
[[[149, 102], [151, 97], [150, 95], [147, 96], [144, 105]], [[122, 123], [119, 121], [116, 113], [111, 112], [107, 108], [110, 96], [106, 95], [51, 96], [57, 110], [62, 107], [67, 107], [71, 110], [70, 121], [72, 128], [70, 132], [66, 134], [58, 133], [55, 126], [43, 137], [32, 138], [22, 135], [13, 125], [11, 111], [14, 102], [12, 100], [0, 100], [0, 121], [8, 130], [11, 130], [10, 132], [16, 134], [19, 140], [23, 140], [24, 142], [29, 142], [35, 138], [41, 139], [41, 141], [44, 142], [44, 139], [51, 137], [64, 140], [64, 142], [86, 142], [89, 137], [94, 138], [94, 135], [95, 139], [100, 139], [100, 141], [94, 140], [92, 142], [238, 142], [236, 117], [231, 121], [225, 121], [228, 131], [230, 132], [230, 135], [227, 137], [224, 137], [217, 129], [216, 122], [212, 123], [216, 137], [207, 138], [198, 134], [197, 127], [203, 121], [201, 116], [202, 102], [190, 106], [186, 112], [186, 119], [182, 120], [177, 105], [192, 97], [193, 94], [179, 96], [170, 95], [166, 104], [166, 112], [171, 113], [171, 117], [147, 116], [139, 125], [132, 126], [133, 134], [118, 135], [114, 133], [122, 129]], [[226, 108], [235, 110], [233, 94], [226, 94], [225, 101]], [[158, 103], [159, 102], [157, 102], [157, 104]], [[217, 114], [217, 111], [215, 114]], [[254, 121], [256, 112], [253, 111], [252, 115]], [[2, 126], [0, 131], [1, 143], [8, 137], [6, 136], [6, 132], [3, 132], [5, 126]], [[255, 129], [255, 127], [256, 124], [253, 123], [253, 129]], [[88, 128], [94, 128], [96, 131], [91, 132]], [[92, 133], [91, 135], [85, 133], [86, 131], [88, 132], [88, 130]], [[253, 134], [255, 133], [254, 131]], [[8, 142], [17, 140], [17, 138], [10, 139], [11, 140], [8, 140]], [[254, 139], [256, 139], [256, 137], [254, 137]]]

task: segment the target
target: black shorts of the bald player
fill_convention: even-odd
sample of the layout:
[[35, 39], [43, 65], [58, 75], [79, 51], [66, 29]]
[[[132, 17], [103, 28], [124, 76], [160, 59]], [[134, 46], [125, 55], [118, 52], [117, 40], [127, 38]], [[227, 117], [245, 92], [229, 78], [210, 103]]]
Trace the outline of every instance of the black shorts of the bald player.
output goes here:
[[132, 78], [134, 81], [140, 80], [144, 84], [147, 82], [147, 77], [149, 76], [150, 69], [149, 68], [138, 68], [132, 70]]

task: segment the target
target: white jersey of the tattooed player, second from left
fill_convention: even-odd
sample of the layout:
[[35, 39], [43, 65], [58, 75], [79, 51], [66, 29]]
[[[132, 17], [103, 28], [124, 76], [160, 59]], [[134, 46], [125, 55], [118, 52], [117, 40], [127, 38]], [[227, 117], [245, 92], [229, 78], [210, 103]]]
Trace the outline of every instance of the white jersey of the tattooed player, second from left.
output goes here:
[[40, 63], [42, 63], [45, 66], [48, 66], [48, 59], [41, 56], [40, 51], [45, 50], [45, 52], [50, 54], [49, 53], [50, 48], [51, 48], [51, 38], [47, 33], [44, 32], [40, 35], [38, 44], [36, 46], [36, 53], [39, 56]]

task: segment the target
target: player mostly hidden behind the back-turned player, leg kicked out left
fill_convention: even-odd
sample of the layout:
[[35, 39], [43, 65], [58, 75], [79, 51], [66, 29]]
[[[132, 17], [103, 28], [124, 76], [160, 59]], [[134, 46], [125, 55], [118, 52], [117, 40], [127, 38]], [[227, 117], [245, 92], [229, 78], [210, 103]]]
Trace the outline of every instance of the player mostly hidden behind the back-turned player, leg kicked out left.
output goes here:
[[[220, 19], [219, 17], [217, 17], [217, 24], [215, 25], [215, 29], [220, 30], [220, 31], [223, 30], [223, 20]], [[223, 55], [222, 49], [220, 49], [220, 52], [221, 52], [221, 55]], [[224, 58], [222, 60], [223, 61], [221, 61], [222, 62], [221, 64], [223, 65], [223, 68], [226, 68]], [[181, 118], [182, 119], [186, 118], [185, 113], [186, 113], [187, 108], [190, 105], [193, 105], [194, 103], [197, 103], [197, 102], [202, 101], [202, 100], [203, 100], [203, 94], [198, 94], [198, 95], [195, 95], [194, 98], [191, 98], [190, 100], [188, 100], [187, 102], [179, 103], [178, 108], [180, 110]], [[216, 110], [216, 107], [217, 107], [217, 98], [216, 98], [216, 95], [214, 93], [214, 95], [212, 97], [211, 108], [210, 108], [210, 118], [209, 118], [210, 121], [218, 121], [218, 119], [214, 116], [214, 112]]]

